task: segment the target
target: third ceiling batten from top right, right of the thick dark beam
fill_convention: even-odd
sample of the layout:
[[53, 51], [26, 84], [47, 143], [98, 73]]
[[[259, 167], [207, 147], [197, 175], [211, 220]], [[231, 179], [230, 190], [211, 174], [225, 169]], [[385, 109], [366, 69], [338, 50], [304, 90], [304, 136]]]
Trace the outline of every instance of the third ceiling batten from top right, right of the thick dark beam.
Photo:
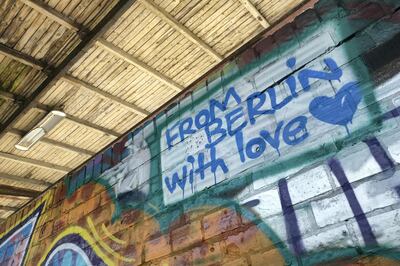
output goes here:
[[183, 87], [173, 81], [172, 79], [164, 76], [163, 74], [159, 73], [155, 69], [151, 68], [150, 66], [146, 65], [142, 61], [139, 61], [137, 58], [133, 57], [132, 55], [128, 54], [121, 48], [115, 46], [114, 44], [107, 42], [104, 39], [99, 39], [97, 41], [97, 44], [102, 47], [104, 50], [108, 51], [109, 53], [125, 60], [129, 64], [134, 65], [136, 68], [140, 69], [141, 71], [151, 75], [153, 78], [161, 81], [168, 87], [172, 88], [173, 90], [177, 92], [181, 92], [183, 90]]

